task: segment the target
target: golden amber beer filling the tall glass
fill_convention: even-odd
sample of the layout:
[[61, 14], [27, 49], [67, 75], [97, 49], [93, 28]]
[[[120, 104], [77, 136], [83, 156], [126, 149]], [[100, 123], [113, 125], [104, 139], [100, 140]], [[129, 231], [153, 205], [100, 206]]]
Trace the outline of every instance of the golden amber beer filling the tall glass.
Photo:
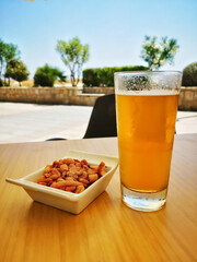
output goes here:
[[121, 184], [136, 192], [167, 188], [178, 93], [116, 94]]

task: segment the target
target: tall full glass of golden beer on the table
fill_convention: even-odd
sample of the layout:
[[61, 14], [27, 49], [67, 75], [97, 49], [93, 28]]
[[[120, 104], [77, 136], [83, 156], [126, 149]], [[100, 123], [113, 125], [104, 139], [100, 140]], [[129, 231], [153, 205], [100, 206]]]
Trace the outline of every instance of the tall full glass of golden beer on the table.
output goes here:
[[166, 201], [182, 72], [115, 73], [123, 202], [138, 211]]

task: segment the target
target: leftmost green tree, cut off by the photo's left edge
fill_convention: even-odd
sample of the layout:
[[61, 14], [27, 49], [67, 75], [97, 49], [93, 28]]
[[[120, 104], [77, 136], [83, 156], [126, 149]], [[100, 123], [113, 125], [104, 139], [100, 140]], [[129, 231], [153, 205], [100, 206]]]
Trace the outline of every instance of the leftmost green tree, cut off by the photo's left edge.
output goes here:
[[12, 60], [18, 60], [20, 57], [20, 51], [18, 46], [13, 44], [5, 44], [0, 39], [0, 82], [2, 82], [2, 76], [5, 73], [7, 67]]

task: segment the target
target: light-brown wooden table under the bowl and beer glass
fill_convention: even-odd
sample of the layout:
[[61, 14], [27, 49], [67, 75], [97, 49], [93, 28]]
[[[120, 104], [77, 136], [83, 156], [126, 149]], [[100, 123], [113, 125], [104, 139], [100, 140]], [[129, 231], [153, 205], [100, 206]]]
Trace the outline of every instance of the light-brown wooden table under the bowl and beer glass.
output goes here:
[[197, 134], [175, 136], [167, 203], [153, 213], [121, 203], [118, 171], [79, 215], [33, 202], [5, 182], [69, 150], [117, 156], [117, 140], [0, 145], [0, 261], [197, 261]]

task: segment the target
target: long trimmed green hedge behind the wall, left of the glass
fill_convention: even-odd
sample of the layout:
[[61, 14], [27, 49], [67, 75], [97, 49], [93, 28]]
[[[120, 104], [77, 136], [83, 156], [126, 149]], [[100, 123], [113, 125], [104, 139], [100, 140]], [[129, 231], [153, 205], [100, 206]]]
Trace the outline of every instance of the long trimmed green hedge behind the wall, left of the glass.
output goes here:
[[83, 70], [83, 83], [85, 86], [114, 86], [114, 73], [121, 71], [146, 71], [142, 66], [120, 68], [96, 68]]

